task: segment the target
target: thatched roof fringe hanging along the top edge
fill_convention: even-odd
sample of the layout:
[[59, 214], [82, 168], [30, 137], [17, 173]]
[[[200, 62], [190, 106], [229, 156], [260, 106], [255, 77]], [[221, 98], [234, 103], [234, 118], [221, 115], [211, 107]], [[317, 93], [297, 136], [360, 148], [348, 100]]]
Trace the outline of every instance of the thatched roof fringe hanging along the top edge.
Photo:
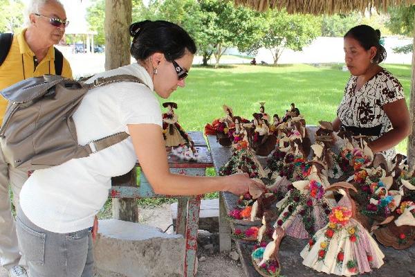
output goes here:
[[248, 6], [264, 12], [271, 9], [286, 8], [289, 13], [305, 13], [313, 15], [347, 13], [352, 11], [365, 12], [369, 8], [387, 10], [388, 6], [414, 5], [415, 0], [234, 0], [237, 5]]

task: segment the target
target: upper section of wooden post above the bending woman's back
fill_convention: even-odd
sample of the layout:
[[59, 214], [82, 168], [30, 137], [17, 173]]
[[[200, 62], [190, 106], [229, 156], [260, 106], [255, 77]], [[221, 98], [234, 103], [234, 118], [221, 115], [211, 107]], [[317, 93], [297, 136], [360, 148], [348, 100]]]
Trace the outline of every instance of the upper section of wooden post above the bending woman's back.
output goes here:
[[131, 63], [131, 0], [105, 0], [105, 70]]

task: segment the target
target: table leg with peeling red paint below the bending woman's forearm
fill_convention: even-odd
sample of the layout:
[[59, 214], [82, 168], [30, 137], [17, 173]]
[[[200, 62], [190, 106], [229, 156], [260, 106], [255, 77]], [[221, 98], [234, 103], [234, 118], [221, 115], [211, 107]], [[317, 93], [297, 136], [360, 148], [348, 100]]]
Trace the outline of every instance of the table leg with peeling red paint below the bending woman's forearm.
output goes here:
[[201, 197], [191, 197], [187, 208], [187, 224], [185, 234], [185, 277], [196, 276], [197, 259], [197, 233], [199, 229], [199, 212], [201, 210]]

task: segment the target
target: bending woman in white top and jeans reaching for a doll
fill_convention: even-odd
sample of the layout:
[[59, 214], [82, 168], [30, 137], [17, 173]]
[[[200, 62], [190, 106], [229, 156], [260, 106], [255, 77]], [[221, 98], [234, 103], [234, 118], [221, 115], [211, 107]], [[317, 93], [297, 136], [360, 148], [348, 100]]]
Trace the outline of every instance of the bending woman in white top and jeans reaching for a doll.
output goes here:
[[95, 215], [108, 198], [111, 177], [129, 172], [137, 158], [160, 195], [224, 190], [241, 195], [249, 186], [261, 186], [243, 174], [187, 177], [169, 172], [163, 120], [153, 91], [168, 98], [178, 87], [185, 87], [196, 46], [183, 28], [167, 21], [134, 23], [130, 34], [131, 55], [137, 62], [98, 73], [87, 82], [127, 74], [142, 83], [95, 87], [73, 115], [81, 145], [116, 132], [127, 132], [129, 138], [89, 157], [35, 170], [21, 190], [17, 233], [32, 277], [93, 276]]

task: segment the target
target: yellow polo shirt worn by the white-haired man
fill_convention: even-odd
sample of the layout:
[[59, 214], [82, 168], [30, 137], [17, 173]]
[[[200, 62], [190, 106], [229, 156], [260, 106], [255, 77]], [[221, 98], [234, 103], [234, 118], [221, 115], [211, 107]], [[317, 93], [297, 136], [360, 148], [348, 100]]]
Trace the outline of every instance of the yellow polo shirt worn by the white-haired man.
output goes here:
[[[39, 77], [45, 74], [55, 74], [55, 50], [50, 46], [44, 59], [37, 64], [33, 62], [35, 53], [28, 46], [24, 38], [26, 29], [19, 35], [14, 35], [10, 51], [6, 60], [0, 66], [0, 91], [21, 80]], [[62, 76], [72, 78], [72, 70], [69, 62], [64, 57]], [[6, 113], [7, 100], [0, 96], [0, 125]]]

